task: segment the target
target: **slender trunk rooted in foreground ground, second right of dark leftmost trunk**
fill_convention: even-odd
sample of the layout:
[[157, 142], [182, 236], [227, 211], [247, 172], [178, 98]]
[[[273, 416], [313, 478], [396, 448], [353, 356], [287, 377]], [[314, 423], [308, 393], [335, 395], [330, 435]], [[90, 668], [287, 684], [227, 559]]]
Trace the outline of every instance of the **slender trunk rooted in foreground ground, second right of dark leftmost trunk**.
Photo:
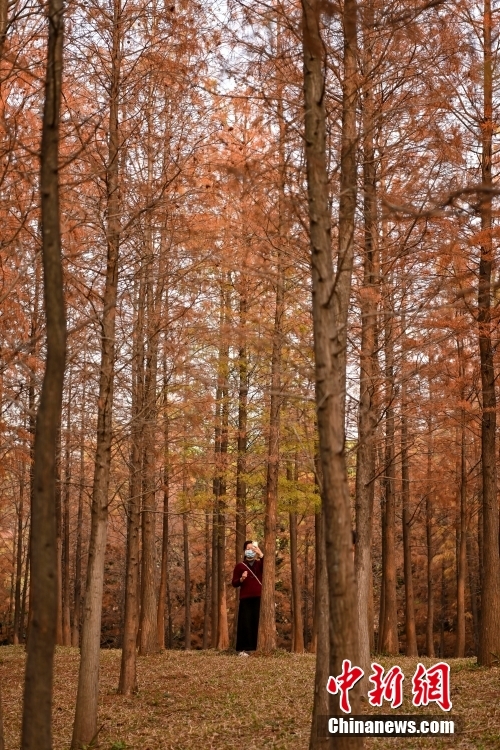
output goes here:
[[139, 631], [139, 566], [142, 504], [143, 407], [144, 407], [144, 294], [143, 269], [139, 271], [132, 360], [132, 420], [127, 513], [127, 560], [125, 565], [125, 616], [118, 692], [137, 690], [137, 634]]

